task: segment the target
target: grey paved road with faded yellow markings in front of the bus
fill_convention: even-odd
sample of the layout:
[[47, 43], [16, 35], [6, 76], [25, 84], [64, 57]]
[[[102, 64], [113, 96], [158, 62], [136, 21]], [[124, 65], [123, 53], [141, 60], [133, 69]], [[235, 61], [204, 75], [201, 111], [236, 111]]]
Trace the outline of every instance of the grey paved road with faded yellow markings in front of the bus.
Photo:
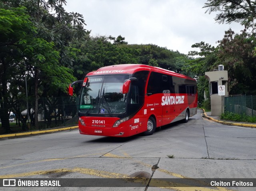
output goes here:
[[1, 179], [152, 178], [148, 185], [0, 187], [0, 190], [255, 190], [255, 187], [207, 187], [202, 182], [197, 188], [168, 187], [162, 180], [256, 178], [256, 128], [212, 122], [203, 119], [200, 112], [188, 123], [170, 124], [152, 136], [86, 136], [74, 129], [0, 139]]

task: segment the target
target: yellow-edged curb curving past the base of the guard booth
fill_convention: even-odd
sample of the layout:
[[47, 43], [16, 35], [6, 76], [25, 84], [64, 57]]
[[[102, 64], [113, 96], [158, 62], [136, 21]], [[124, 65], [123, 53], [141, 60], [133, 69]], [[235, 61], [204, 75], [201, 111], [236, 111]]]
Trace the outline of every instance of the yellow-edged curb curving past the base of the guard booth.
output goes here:
[[205, 117], [209, 120], [213, 120], [218, 123], [226, 124], [226, 125], [234, 125], [234, 126], [243, 126], [243, 127], [253, 127], [256, 128], [255, 123], [249, 123], [249, 122], [232, 122], [232, 121], [226, 121], [226, 120], [221, 120], [219, 116], [212, 116], [211, 112], [205, 112], [204, 109], [202, 117]]

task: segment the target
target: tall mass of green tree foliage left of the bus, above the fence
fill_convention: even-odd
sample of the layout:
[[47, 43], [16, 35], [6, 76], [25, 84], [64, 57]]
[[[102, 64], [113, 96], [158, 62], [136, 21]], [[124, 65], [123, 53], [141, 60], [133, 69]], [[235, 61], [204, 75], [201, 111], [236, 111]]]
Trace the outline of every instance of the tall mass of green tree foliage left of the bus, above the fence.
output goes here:
[[[0, 118], [8, 114], [15, 98], [24, 95], [24, 75], [28, 95], [36, 97], [34, 116], [38, 116], [38, 96], [60, 96], [75, 80], [67, 68], [73, 60], [67, 56], [68, 47], [75, 38], [82, 39], [84, 21], [80, 14], [65, 12], [62, 3], [65, 1], [0, 1], [0, 96], [5, 100], [0, 102], [4, 108]], [[55, 13], [50, 13], [50, 7]], [[7, 122], [8, 118], [3, 121], [8, 132]], [[26, 118], [26, 126], [25, 122]]]

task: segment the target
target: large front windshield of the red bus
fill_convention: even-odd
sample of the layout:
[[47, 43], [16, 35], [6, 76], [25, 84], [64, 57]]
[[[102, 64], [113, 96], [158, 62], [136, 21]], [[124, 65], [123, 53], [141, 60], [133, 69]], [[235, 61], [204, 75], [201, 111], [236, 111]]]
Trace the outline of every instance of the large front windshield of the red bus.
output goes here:
[[122, 114], [126, 112], [127, 95], [122, 93], [129, 75], [100, 75], [88, 77], [82, 87], [79, 112], [84, 114]]

